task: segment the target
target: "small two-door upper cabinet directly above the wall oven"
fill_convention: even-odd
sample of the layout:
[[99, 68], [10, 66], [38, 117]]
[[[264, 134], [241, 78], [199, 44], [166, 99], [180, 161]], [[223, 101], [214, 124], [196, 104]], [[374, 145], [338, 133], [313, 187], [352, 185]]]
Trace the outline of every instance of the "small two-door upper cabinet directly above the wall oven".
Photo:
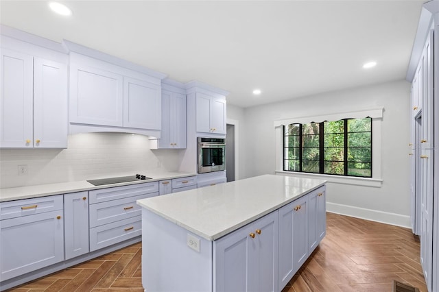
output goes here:
[[226, 100], [197, 93], [196, 128], [197, 132], [226, 134]]

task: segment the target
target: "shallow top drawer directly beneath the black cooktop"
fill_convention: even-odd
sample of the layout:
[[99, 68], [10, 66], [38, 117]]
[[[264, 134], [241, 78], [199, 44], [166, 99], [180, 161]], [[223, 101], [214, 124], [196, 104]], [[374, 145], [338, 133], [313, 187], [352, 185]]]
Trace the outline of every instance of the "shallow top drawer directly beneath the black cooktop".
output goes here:
[[89, 192], [90, 204], [107, 202], [112, 199], [134, 197], [147, 193], [158, 192], [158, 182], [147, 182], [145, 184], [134, 184], [130, 186], [115, 186], [114, 188], [102, 188]]

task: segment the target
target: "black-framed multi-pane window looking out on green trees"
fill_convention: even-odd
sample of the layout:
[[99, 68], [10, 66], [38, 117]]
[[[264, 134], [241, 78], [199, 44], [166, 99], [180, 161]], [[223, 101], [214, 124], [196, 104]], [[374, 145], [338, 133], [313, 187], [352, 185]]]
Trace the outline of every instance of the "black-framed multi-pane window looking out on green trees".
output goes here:
[[283, 170], [372, 178], [372, 118], [284, 126]]

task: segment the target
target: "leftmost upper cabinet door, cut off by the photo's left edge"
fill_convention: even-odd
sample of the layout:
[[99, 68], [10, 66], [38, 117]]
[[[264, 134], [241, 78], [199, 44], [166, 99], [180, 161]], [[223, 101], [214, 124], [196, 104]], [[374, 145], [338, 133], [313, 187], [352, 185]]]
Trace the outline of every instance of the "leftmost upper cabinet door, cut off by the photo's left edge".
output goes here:
[[33, 147], [33, 58], [1, 49], [0, 147]]

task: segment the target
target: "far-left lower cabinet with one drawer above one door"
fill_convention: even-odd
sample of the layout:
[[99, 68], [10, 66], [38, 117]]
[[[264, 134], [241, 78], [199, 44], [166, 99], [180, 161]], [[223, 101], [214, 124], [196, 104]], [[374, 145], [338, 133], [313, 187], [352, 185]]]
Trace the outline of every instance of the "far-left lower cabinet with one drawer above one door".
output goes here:
[[2, 281], [64, 260], [62, 195], [50, 199], [0, 204], [1, 218], [13, 216], [0, 221]]

